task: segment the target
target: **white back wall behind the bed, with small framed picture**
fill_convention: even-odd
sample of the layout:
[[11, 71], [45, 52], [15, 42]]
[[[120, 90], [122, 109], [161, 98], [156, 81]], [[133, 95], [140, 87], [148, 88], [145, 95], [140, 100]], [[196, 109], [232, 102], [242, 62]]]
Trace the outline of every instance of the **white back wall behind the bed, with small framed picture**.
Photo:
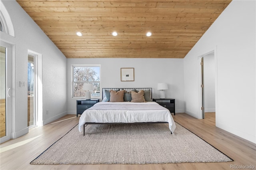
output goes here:
[[[140, 58], [98, 58], [67, 59], [67, 77], [71, 80], [71, 65], [100, 64], [102, 88], [152, 87], [152, 96], [159, 97], [157, 83], [167, 83], [166, 97], [176, 101], [176, 112], [184, 112], [183, 59], [140, 59]], [[120, 68], [133, 67], [134, 81], [121, 81]], [[71, 83], [68, 83], [68, 114], [76, 114], [76, 99], [71, 97]], [[101, 98], [100, 98], [101, 99]]]

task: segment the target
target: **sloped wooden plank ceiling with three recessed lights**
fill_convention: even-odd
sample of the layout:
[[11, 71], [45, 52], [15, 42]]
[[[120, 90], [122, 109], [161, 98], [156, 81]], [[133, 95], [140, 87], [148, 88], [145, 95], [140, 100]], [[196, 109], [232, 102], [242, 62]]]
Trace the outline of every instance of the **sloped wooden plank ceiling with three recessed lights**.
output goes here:
[[67, 58], [184, 58], [231, 0], [17, 2]]

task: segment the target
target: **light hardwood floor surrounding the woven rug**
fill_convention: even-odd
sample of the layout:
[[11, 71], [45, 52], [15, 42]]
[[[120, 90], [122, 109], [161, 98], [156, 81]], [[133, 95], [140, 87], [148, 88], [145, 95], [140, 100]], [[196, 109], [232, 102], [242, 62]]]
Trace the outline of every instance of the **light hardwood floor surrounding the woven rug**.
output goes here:
[[[178, 164], [96, 164], [96, 165], [30, 165], [39, 154], [66, 134], [79, 120], [66, 115], [44, 127], [35, 127], [20, 138], [1, 144], [1, 170], [220, 170], [230, 166], [256, 168], [256, 144], [215, 127], [215, 114], [206, 113], [206, 119], [195, 119], [185, 113], [176, 113], [174, 120], [194, 132], [206, 142], [232, 158], [233, 162], [178, 163]], [[238, 167], [239, 168], [239, 167]]]

